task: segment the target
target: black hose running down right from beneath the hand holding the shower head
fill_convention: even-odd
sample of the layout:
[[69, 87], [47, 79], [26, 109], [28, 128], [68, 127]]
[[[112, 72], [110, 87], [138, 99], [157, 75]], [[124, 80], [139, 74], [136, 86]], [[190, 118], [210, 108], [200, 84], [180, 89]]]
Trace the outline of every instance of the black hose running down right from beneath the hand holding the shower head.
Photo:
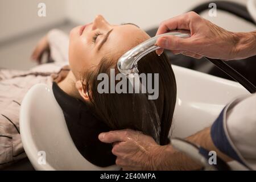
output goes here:
[[240, 83], [243, 87], [245, 87], [250, 93], [256, 93], [256, 87], [245, 77], [243, 77], [240, 73], [234, 70], [230, 65], [226, 64], [224, 61], [219, 59], [211, 59], [209, 57], [205, 57], [205, 59], [212, 62], [216, 67], [220, 68], [227, 75], [232, 77], [238, 83]]

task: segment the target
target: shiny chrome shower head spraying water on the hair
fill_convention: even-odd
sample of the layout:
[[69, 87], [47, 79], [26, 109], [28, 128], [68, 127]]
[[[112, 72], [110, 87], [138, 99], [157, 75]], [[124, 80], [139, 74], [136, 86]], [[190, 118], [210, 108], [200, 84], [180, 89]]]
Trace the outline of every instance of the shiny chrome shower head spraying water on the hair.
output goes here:
[[120, 73], [128, 76], [130, 73], [139, 73], [138, 71], [138, 61], [148, 53], [159, 49], [160, 47], [155, 46], [156, 40], [160, 36], [174, 35], [180, 38], [189, 38], [189, 33], [184, 32], [168, 32], [167, 34], [162, 34], [155, 36], [154, 38], [148, 39], [145, 42], [139, 44], [138, 46], [132, 48], [130, 51], [122, 55], [117, 61], [117, 68]]

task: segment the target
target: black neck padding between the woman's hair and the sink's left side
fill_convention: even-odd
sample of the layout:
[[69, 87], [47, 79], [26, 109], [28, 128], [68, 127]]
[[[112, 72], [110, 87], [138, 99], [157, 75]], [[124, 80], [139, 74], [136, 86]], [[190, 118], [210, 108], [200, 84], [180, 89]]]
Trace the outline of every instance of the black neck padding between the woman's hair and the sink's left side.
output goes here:
[[98, 135], [110, 131], [110, 127], [97, 119], [88, 105], [61, 90], [56, 82], [53, 82], [52, 90], [63, 110], [71, 138], [81, 155], [96, 166], [106, 167], [115, 164], [116, 158], [111, 152], [112, 145], [98, 140]]

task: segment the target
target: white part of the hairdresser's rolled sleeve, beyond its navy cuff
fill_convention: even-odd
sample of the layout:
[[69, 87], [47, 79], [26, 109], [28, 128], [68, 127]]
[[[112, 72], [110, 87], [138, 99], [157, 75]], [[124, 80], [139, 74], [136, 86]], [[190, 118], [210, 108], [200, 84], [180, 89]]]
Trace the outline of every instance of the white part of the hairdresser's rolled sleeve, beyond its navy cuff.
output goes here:
[[247, 166], [256, 170], [256, 94], [232, 102], [225, 122], [233, 146]]

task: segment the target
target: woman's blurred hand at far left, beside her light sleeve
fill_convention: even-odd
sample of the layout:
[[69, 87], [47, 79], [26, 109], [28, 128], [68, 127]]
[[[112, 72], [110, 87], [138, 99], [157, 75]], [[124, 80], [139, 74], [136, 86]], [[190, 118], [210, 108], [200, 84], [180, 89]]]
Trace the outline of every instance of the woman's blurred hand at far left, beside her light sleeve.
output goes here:
[[47, 35], [40, 39], [38, 44], [36, 44], [36, 47], [31, 55], [31, 60], [36, 61], [38, 64], [42, 63], [42, 57], [46, 51], [49, 51]]

